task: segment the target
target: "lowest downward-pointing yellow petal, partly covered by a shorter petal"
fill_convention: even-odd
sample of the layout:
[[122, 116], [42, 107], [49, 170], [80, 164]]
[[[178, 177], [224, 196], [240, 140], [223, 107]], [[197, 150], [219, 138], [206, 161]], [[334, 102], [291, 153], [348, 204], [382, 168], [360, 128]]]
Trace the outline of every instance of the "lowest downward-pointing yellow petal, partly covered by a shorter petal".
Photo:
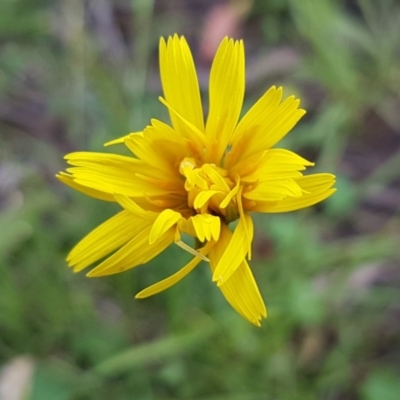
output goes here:
[[[210, 250], [211, 271], [215, 272], [226, 247], [229, 245], [232, 233], [227, 227], [221, 232], [220, 240]], [[256, 326], [260, 326], [262, 317], [267, 311], [254, 280], [253, 274], [246, 261], [243, 261], [232, 276], [223, 285], [219, 286], [229, 304], [244, 318]]]

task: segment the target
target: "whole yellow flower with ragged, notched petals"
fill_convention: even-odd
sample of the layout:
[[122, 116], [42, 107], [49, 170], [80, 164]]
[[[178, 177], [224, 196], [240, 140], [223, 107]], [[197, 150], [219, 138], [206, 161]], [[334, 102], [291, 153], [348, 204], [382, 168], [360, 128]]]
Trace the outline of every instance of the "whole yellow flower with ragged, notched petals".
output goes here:
[[[144, 264], [175, 243], [193, 259], [137, 298], [171, 287], [204, 260], [227, 301], [259, 326], [267, 312], [247, 262], [251, 214], [316, 204], [335, 191], [335, 177], [304, 176], [302, 171], [312, 162], [272, 148], [305, 114], [294, 96], [282, 101], [282, 88], [271, 87], [239, 118], [245, 90], [242, 41], [225, 38], [217, 51], [206, 122], [183, 37], [161, 39], [160, 71], [160, 101], [169, 111], [171, 126], [153, 119], [142, 132], [107, 143], [124, 144], [134, 157], [90, 152], [65, 157], [72, 167], [58, 175], [62, 182], [122, 207], [81, 240], [67, 261], [78, 272], [104, 259], [88, 276], [111, 275]], [[236, 220], [232, 231], [229, 224]], [[198, 246], [185, 243], [182, 234], [196, 238]]]

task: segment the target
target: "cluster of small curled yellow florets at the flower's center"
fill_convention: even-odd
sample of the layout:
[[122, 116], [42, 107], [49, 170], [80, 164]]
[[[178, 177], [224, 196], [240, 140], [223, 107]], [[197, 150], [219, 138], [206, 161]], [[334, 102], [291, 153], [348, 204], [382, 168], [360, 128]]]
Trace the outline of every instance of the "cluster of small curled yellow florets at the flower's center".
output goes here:
[[198, 165], [194, 158], [185, 158], [179, 166], [186, 178], [188, 206], [198, 214], [218, 215], [226, 223], [239, 218], [239, 177], [230, 177], [228, 171], [215, 164]]

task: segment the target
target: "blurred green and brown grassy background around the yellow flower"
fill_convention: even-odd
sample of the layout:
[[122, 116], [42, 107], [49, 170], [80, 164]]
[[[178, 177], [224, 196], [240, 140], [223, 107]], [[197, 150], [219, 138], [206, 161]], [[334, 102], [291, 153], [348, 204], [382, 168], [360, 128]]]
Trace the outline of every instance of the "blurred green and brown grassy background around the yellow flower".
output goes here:
[[[282, 147], [338, 177], [311, 209], [256, 216], [257, 329], [171, 248], [102, 279], [65, 256], [113, 204], [64, 187], [63, 155], [167, 121], [160, 36], [184, 34], [204, 97], [215, 43], [246, 46], [247, 109], [283, 85], [308, 113]], [[0, 399], [400, 398], [397, 0], [0, 2]]]

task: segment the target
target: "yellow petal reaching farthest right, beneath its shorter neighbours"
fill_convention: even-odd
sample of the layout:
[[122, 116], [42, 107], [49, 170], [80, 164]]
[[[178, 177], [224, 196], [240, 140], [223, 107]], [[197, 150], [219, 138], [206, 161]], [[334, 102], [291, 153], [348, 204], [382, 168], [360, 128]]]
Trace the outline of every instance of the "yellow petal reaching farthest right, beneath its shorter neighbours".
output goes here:
[[314, 174], [296, 179], [297, 184], [304, 191], [301, 197], [287, 197], [276, 202], [256, 201], [248, 211], [278, 213], [299, 210], [327, 199], [336, 189], [331, 189], [335, 183], [335, 176], [331, 174]]

